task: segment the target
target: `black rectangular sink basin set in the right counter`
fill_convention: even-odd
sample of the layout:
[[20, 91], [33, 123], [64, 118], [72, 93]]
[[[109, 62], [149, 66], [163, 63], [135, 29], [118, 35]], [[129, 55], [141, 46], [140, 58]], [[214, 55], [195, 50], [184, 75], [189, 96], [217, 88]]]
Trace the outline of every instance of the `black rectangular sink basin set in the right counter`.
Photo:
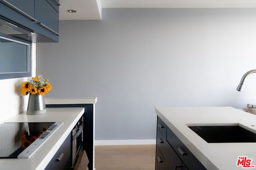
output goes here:
[[256, 142], [256, 134], [239, 125], [188, 127], [208, 143]]

